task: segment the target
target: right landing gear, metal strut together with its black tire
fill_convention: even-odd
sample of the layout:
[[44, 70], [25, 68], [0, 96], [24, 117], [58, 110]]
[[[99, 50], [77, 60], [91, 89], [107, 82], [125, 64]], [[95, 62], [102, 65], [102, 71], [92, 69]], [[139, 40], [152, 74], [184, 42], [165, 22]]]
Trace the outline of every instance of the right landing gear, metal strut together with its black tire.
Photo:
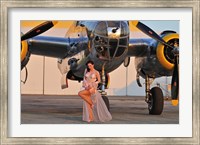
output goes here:
[[163, 111], [164, 99], [162, 90], [159, 87], [153, 87], [150, 89], [150, 79], [146, 76], [145, 79], [145, 101], [148, 104], [149, 114], [160, 115]]

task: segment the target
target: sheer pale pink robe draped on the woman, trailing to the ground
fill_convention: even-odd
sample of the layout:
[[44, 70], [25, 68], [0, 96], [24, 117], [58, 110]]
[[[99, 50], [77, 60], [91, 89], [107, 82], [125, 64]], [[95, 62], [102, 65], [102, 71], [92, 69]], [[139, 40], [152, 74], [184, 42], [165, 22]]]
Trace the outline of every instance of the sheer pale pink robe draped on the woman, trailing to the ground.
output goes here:
[[[95, 89], [95, 92], [91, 95], [92, 102], [94, 104], [92, 113], [93, 121], [95, 122], [106, 122], [112, 119], [110, 112], [108, 111], [106, 104], [104, 103], [101, 94], [97, 91], [98, 82], [96, 82], [97, 77], [96, 72], [86, 72], [83, 80], [83, 86], [92, 87]], [[83, 121], [89, 121], [89, 110], [87, 102], [83, 101]]]

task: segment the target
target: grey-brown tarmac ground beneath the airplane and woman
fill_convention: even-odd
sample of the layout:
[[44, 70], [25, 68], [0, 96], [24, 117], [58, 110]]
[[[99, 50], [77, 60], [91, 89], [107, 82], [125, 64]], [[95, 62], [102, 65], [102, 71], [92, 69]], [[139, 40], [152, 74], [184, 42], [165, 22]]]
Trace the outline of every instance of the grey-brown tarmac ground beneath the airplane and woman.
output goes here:
[[[149, 115], [144, 97], [108, 96], [112, 120], [106, 124], [178, 124], [179, 106], [164, 101], [161, 115]], [[22, 124], [87, 124], [78, 96], [22, 95]], [[97, 124], [92, 122], [92, 124]]]

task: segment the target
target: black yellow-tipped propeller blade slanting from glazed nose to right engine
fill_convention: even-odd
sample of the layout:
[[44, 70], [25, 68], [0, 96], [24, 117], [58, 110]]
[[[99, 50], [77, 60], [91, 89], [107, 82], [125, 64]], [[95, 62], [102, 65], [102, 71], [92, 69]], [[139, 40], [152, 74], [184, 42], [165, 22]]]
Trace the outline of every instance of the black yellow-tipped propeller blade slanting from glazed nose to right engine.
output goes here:
[[146, 26], [145, 24], [135, 20], [135, 21], [130, 21], [131, 24], [133, 24], [135, 27], [137, 27], [139, 30], [141, 30], [143, 33], [148, 35], [149, 37], [159, 41], [160, 43], [167, 45], [168, 47], [174, 49], [171, 45], [169, 45], [167, 42], [165, 42], [156, 32], [154, 32], [151, 28]]

